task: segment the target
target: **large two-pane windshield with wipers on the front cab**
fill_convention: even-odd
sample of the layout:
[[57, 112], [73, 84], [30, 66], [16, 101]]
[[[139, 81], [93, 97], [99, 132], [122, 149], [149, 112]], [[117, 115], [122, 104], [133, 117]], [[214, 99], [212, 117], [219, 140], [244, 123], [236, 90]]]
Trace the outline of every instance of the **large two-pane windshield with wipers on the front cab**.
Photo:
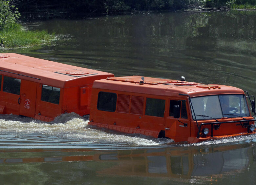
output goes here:
[[[200, 96], [191, 98], [191, 102], [198, 120], [250, 115], [242, 94]], [[195, 115], [192, 115], [195, 119]]]

